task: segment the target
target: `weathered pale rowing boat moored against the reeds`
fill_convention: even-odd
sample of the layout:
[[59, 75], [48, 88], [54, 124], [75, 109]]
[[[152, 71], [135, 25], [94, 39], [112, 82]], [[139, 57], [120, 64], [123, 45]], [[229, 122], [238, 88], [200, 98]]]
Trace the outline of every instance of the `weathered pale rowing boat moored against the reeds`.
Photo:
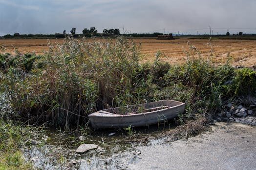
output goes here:
[[149, 126], [177, 117], [184, 107], [183, 102], [162, 100], [100, 110], [90, 114], [89, 120], [95, 129]]

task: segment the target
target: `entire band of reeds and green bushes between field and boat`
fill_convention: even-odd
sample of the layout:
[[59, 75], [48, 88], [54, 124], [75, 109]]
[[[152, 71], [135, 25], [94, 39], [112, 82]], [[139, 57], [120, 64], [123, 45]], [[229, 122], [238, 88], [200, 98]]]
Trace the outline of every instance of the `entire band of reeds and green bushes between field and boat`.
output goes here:
[[223, 100], [256, 92], [256, 71], [235, 70], [227, 63], [214, 67], [189, 44], [187, 62], [179, 66], [140, 64], [132, 40], [106, 42], [66, 38], [42, 56], [0, 55], [1, 91], [11, 96], [8, 117], [30, 123], [51, 121], [65, 129], [87, 122], [100, 109], [162, 99], [186, 102], [186, 114], [213, 118]]

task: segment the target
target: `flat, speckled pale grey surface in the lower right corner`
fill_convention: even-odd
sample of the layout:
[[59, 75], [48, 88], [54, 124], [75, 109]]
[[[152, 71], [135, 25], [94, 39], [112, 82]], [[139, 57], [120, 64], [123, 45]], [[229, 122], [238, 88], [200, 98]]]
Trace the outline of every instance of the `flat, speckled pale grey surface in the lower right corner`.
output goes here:
[[256, 126], [216, 123], [188, 141], [137, 147], [131, 170], [256, 170]]

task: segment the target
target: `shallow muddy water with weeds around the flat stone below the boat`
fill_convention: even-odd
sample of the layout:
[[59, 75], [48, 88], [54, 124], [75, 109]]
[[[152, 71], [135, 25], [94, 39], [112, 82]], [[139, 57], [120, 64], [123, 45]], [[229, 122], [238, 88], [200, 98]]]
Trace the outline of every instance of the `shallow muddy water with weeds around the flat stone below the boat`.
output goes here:
[[[148, 138], [156, 136], [159, 132], [174, 128], [175, 123], [169, 122], [126, 130], [89, 131], [84, 141], [80, 141], [78, 136], [73, 134], [46, 128], [39, 144], [23, 151], [26, 160], [33, 162], [37, 169], [125, 170], [127, 164], [138, 161], [137, 155], [140, 153], [134, 149], [135, 146], [143, 145], [143, 141], [148, 142]], [[84, 143], [98, 144], [99, 147], [84, 154], [75, 153], [76, 148]]]

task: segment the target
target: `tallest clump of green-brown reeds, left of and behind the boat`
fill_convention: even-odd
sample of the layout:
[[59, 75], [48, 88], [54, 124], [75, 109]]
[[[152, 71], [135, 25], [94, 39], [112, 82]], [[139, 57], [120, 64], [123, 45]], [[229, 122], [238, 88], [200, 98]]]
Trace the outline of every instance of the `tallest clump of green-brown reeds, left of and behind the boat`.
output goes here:
[[[125, 38], [67, 38], [41, 57], [9, 56], [2, 85], [11, 91], [12, 107], [21, 118], [51, 120], [68, 129], [85, 123], [96, 110], [147, 100], [147, 68], [139, 65], [139, 57], [138, 47]], [[29, 72], [19, 75], [18, 68]]]

